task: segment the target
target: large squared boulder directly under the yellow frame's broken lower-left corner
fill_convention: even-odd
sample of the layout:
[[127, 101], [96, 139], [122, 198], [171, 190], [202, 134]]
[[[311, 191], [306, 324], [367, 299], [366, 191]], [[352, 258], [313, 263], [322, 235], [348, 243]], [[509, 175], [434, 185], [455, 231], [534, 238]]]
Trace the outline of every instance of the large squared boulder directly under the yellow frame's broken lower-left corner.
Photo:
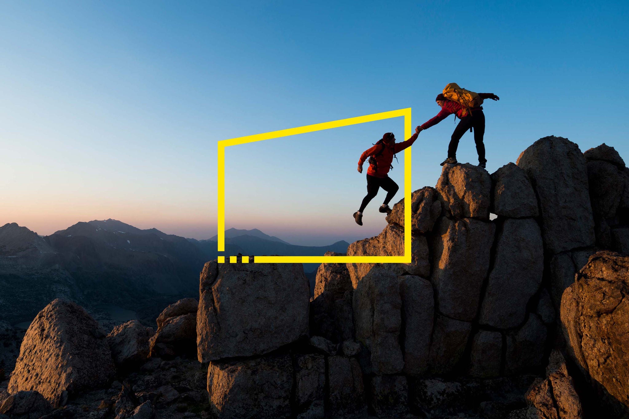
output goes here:
[[199, 295], [199, 362], [261, 355], [308, 335], [301, 264], [208, 262]]

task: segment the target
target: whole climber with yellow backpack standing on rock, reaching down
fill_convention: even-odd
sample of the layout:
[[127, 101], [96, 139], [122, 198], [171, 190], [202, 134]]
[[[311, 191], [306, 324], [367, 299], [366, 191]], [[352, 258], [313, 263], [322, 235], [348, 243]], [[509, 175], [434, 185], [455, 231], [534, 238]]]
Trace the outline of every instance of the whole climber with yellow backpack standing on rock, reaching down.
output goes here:
[[459, 140], [468, 129], [470, 132], [474, 129], [474, 143], [476, 143], [476, 151], [478, 153], [479, 166], [485, 167], [487, 160], [485, 159], [485, 144], [482, 139], [485, 134], [485, 114], [482, 113], [483, 99], [493, 99], [498, 101], [500, 98], [493, 93], [475, 93], [459, 87], [456, 83], [449, 83], [443, 89], [443, 93], [437, 95], [438, 106], [441, 111], [437, 116], [424, 122], [418, 128], [427, 129], [433, 125], [443, 121], [448, 115], [455, 114], [459, 117], [460, 122], [452, 133], [450, 145], [448, 146], [448, 158], [443, 160], [441, 165], [457, 163], [457, 148]]

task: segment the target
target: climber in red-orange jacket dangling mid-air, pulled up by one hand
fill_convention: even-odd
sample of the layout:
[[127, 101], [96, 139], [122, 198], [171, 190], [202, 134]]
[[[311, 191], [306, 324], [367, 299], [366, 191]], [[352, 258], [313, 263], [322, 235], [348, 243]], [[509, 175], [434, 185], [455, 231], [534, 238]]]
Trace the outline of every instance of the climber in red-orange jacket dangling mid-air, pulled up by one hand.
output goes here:
[[369, 204], [369, 201], [376, 196], [381, 187], [387, 191], [387, 196], [384, 199], [384, 204], [380, 205], [378, 210], [380, 212], [386, 212], [387, 214], [391, 212], [389, 202], [391, 202], [393, 196], [398, 192], [399, 187], [387, 173], [389, 173], [389, 170], [392, 168], [391, 162], [393, 161], [394, 155], [412, 146], [417, 136], [420, 134], [420, 131], [420, 127], [415, 128], [415, 134], [402, 143], [395, 142], [393, 133], [385, 133], [382, 139], [372, 148], [360, 155], [358, 172], [362, 173], [362, 165], [365, 163], [365, 160], [367, 160], [367, 157], [369, 157], [369, 168], [367, 169], [367, 195], [365, 195], [362, 200], [360, 209], [353, 214], [354, 220], [359, 226], [362, 226], [362, 212], [365, 210], [365, 207], [367, 207], [367, 204]]

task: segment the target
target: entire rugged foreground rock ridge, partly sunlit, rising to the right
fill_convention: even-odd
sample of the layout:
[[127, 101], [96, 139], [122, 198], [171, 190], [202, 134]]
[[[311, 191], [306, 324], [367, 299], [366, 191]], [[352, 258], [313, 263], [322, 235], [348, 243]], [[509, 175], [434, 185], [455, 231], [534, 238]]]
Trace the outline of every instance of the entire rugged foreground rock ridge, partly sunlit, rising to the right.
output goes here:
[[[404, 227], [401, 200], [347, 255], [401, 255]], [[206, 263], [156, 331], [106, 334], [65, 300], [23, 341], [3, 324], [0, 418], [629, 417], [629, 170], [613, 147], [548, 136], [491, 174], [445, 165], [406, 227], [409, 263], [321, 264], [312, 298], [301, 264], [238, 257]]]

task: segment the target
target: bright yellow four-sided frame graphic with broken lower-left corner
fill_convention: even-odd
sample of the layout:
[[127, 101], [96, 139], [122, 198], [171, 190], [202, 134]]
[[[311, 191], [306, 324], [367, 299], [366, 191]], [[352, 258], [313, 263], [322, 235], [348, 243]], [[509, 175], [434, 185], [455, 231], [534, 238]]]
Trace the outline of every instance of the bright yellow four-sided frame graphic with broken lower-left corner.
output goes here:
[[[404, 139], [411, 136], [411, 108], [377, 114], [357, 116], [338, 121], [321, 122], [298, 128], [281, 129], [270, 133], [249, 135], [218, 141], [218, 251], [225, 251], [225, 148], [254, 143], [265, 139], [281, 138], [296, 134], [313, 133], [324, 129], [340, 128], [364, 122], [404, 117]], [[411, 147], [404, 150], [404, 202], [411, 202]], [[411, 205], [404, 205], [404, 256], [255, 256], [254, 263], [411, 263]], [[244, 259], [244, 258], [243, 258]], [[248, 258], [247, 258], [248, 259]], [[236, 261], [230, 256], [230, 263]], [[225, 263], [225, 256], [218, 256], [218, 263]], [[248, 263], [248, 260], [243, 263]]]

